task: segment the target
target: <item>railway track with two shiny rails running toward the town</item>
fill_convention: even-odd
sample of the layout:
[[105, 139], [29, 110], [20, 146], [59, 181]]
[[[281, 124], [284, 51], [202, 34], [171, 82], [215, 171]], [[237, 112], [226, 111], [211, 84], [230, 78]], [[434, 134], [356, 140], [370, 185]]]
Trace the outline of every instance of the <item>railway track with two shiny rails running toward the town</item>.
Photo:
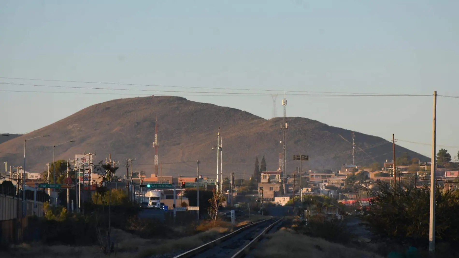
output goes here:
[[246, 225], [234, 232], [222, 236], [174, 258], [241, 258], [256, 246], [263, 235], [269, 232], [282, 219], [265, 219]]

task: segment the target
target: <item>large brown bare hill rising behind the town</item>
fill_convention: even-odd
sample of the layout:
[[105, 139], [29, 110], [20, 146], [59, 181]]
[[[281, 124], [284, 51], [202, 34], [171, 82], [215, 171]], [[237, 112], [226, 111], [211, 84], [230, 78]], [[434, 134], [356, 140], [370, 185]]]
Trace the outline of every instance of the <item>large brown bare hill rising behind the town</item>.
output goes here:
[[[255, 157], [266, 158], [269, 170], [278, 167], [281, 152], [282, 118], [263, 119], [249, 112], [207, 103], [188, 101], [182, 97], [149, 96], [107, 101], [87, 107], [67, 118], [27, 135], [0, 144], [0, 157], [14, 165], [22, 164], [25, 137], [39, 138], [27, 144], [27, 170], [43, 171], [52, 162], [52, 145], [76, 140], [56, 147], [57, 159], [72, 159], [75, 154], [96, 153], [98, 161], [109, 153], [120, 162], [120, 175], [126, 174], [126, 159], [135, 158], [134, 171], [154, 172], [155, 117], [158, 121], [159, 161], [162, 173], [195, 175], [196, 161], [201, 160], [200, 174], [216, 172], [218, 127], [223, 138], [223, 172], [253, 172]], [[287, 171], [298, 166], [291, 161], [294, 154], [309, 155], [305, 168], [336, 169], [352, 163], [351, 131], [332, 127], [307, 118], [287, 118]], [[392, 144], [380, 137], [355, 133], [356, 164], [392, 160]], [[374, 147], [372, 147], [374, 146]], [[414, 151], [397, 146], [397, 154]], [[420, 154], [412, 157], [427, 160]]]

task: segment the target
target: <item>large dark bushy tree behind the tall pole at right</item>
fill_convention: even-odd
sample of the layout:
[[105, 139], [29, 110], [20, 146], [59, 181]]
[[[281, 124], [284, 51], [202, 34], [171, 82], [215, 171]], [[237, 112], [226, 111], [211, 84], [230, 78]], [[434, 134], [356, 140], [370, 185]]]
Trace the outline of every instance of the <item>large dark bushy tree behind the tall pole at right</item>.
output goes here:
[[[430, 189], [392, 187], [388, 183], [375, 183], [377, 190], [368, 189], [372, 198], [369, 209], [363, 219], [369, 229], [382, 239], [390, 238], [395, 242], [404, 242], [416, 246], [425, 246], [429, 237]], [[436, 238], [450, 244], [459, 243], [459, 191], [443, 191], [438, 186], [436, 191]]]

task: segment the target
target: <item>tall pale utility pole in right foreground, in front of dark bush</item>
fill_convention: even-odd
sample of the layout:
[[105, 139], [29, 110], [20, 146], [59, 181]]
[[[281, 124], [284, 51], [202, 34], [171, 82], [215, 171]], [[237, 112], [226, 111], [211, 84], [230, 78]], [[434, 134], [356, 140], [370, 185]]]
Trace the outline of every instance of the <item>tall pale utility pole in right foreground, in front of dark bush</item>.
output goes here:
[[437, 91], [433, 92], [433, 119], [432, 119], [432, 160], [431, 160], [431, 198], [430, 198], [430, 217], [429, 217], [429, 252], [435, 253], [435, 147], [437, 144]]

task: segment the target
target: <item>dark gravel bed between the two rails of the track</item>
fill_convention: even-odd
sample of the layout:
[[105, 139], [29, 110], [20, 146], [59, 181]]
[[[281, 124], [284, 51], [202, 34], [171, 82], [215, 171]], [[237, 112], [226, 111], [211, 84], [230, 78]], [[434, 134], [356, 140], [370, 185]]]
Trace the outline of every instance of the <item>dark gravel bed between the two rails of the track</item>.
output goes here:
[[[267, 219], [236, 232], [234, 236], [228, 239], [208, 243], [202, 247], [197, 247], [182, 253], [175, 258], [231, 258], [239, 252], [241, 248], [246, 247], [247, 244], [259, 236], [267, 227], [278, 220], [279, 219]], [[278, 224], [279, 223], [275, 224], [273, 228]]]

